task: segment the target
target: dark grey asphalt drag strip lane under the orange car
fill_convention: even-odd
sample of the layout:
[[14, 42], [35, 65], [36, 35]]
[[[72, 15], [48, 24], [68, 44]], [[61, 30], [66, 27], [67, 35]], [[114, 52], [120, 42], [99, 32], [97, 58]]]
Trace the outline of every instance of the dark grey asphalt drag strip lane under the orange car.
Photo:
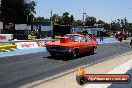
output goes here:
[[49, 58], [49, 53], [39, 52], [21, 56], [0, 58], [0, 87], [15, 88], [33, 81], [45, 79], [60, 72], [91, 64], [101, 59], [131, 51], [129, 43], [102, 44], [94, 55], [81, 56], [74, 60]]

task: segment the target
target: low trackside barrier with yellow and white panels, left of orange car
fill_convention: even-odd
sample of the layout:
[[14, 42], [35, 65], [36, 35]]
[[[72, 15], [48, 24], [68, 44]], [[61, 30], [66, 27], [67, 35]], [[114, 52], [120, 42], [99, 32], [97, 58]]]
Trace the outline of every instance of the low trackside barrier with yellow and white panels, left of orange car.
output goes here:
[[16, 49], [38, 48], [44, 47], [46, 41], [58, 41], [59, 39], [35, 39], [35, 40], [13, 40], [0, 41], [0, 43], [9, 43], [8, 45], [0, 45], [0, 52], [12, 51]]

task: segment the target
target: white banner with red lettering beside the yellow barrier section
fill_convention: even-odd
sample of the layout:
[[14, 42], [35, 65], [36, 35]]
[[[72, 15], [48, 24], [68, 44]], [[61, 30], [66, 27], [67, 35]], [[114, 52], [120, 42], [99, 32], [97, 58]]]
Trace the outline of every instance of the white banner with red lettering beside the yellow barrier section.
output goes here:
[[38, 44], [36, 42], [18, 42], [15, 44], [17, 45], [17, 49], [38, 48]]

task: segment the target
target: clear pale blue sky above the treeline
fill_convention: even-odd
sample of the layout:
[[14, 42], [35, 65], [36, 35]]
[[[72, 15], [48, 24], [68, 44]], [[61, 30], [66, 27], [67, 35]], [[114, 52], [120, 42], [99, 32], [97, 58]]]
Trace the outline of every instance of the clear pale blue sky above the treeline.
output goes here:
[[[107, 23], [116, 19], [127, 18], [132, 23], [132, 0], [34, 0], [37, 2], [35, 16], [49, 18], [53, 14], [60, 16], [69, 12], [75, 20], [83, 19], [83, 11], [87, 16]], [[85, 15], [85, 17], [86, 17]]]

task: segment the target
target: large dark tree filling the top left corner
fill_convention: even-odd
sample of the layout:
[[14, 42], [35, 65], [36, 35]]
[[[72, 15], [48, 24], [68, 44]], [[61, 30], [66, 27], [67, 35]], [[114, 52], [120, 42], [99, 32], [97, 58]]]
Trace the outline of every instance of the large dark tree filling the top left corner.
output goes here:
[[1, 0], [2, 18], [5, 23], [30, 23], [35, 6], [30, 0]]

